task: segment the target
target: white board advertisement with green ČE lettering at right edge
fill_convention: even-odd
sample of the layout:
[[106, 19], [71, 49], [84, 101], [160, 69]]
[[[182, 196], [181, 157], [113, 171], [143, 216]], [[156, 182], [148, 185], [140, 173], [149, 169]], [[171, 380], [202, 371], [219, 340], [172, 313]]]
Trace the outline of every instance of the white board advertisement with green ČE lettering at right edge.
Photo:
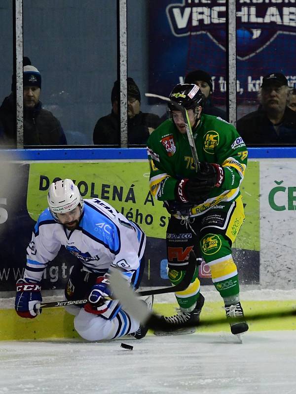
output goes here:
[[260, 277], [268, 288], [295, 289], [295, 160], [266, 159], [260, 170]]

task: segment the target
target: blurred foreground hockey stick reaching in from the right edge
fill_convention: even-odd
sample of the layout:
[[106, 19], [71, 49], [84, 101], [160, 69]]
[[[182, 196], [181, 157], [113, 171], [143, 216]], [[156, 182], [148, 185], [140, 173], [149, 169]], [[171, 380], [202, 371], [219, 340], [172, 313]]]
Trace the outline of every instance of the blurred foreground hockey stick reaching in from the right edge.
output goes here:
[[[116, 296], [116, 299], [120, 300], [120, 303], [124, 310], [132, 315], [136, 320], [148, 326], [148, 328], [154, 330], [168, 331], [172, 329], [179, 329], [184, 327], [196, 327], [196, 326], [213, 326], [221, 323], [235, 323], [235, 319], [211, 319], [201, 320], [199, 323], [185, 323], [175, 324], [161, 319], [160, 316], [151, 312], [147, 305], [142, 302], [133, 290], [127, 286], [126, 281], [115, 269], [112, 269], [110, 276], [111, 289]], [[248, 322], [254, 322], [262, 319], [276, 319], [279, 317], [296, 316], [296, 309], [290, 309], [288, 311], [264, 313], [264, 314], [245, 314], [245, 319]]]

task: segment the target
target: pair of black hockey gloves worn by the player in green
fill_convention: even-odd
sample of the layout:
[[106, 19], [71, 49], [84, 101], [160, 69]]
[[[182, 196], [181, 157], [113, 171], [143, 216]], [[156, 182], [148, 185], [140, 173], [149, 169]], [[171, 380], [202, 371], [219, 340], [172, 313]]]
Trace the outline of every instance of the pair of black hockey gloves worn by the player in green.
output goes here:
[[200, 163], [200, 171], [191, 179], [181, 179], [175, 189], [178, 201], [200, 204], [208, 198], [214, 187], [220, 187], [224, 170], [219, 164]]

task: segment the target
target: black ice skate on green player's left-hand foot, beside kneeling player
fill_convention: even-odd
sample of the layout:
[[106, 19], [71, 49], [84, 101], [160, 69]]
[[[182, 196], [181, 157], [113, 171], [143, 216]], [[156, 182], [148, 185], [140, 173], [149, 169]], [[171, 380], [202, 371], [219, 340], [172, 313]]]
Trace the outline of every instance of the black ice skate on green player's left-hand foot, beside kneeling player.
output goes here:
[[[199, 315], [201, 308], [203, 307], [205, 298], [202, 294], [199, 295], [195, 308], [192, 312], [184, 312], [179, 310], [177, 315], [174, 316], [161, 316], [161, 319], [169, 323], [172, 329], [166, 331], [154, 331], [155, 335], [180, 335], [180, 334], [190, 334], [195, 331], [193, 326], [198, 326]], [[174, 327], [175, 326], [175, 327]], [[177, 328], [176, 326], [182, 326], [182, 328]]]

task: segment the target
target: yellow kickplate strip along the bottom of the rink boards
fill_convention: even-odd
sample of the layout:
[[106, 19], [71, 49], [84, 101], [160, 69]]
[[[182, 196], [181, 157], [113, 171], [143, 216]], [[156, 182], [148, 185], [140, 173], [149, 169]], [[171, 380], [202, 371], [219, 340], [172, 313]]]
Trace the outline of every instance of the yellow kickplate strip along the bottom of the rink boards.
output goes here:
[[[287, 312], [296, 310], [296, 300], [285, 301], [243, 301], [242, 306], [248, 321], [248, 315], [268, 315], [268, 313]], [[154, 304], [153, 311], [166, 316], [176, 314], [177, 304]], [[225, 317], [221, 302], [205, 302], [200, 315], [200, 321], [222, 319]], [[0, 310], [0, 340], [37, 340], [80, 338], [74, 330], [74, 316], [68, 314], [63, 307], [44, 309], [36, 319], [23, 319], [12, 309]], [[295, 330], [296, 316], [278, 317], [276, 319], [264, 318], [249, 322], [250, 331], [266, 330]], [[196, 328], [199, 332], [229, 331], [228, 323], [209, 324]]]

